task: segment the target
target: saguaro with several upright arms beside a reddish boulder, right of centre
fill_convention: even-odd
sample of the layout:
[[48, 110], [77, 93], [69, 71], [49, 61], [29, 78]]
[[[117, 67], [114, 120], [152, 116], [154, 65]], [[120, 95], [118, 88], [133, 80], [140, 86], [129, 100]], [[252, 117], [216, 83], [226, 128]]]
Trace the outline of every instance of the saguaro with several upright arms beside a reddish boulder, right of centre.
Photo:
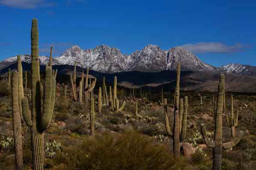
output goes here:
[[[165, 115], [165, 129], [169, 136], [173, 137], [173, 150], [174, 157], [178, 158], [180, 155], [181, 142], [184, 141], [187, 132], [187, 114], [188, 114], [188, 97], [185, 96], [185, 112], [183, 121], [182, 110], [183, 110], [183, 100], [179, 102], [179, 81], [180, 81], [180, 63], [177, 65], [177, 75], [176, 75], [176, 93], [175, 93], [175, 106], [174, 106], [174, 124], [173, 133], [170, 130], [169, 118], [167, 112], [167, 99], [164, 99], [164, 115]], [[181, 108], [182, 107], [182, 108]]]

